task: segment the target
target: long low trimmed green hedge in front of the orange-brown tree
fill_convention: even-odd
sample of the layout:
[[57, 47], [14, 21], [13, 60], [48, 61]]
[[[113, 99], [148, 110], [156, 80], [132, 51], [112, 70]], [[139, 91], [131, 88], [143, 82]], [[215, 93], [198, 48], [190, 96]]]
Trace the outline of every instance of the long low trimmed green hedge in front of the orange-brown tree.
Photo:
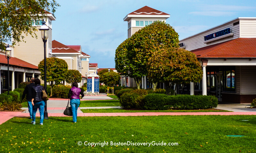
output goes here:
[[207, 109], [215, 108], [218, 99], [215, 96], [148, 94], [142, 102], [142, 107], [149, 110], [167, 110], [170, 107], [180, 109]]

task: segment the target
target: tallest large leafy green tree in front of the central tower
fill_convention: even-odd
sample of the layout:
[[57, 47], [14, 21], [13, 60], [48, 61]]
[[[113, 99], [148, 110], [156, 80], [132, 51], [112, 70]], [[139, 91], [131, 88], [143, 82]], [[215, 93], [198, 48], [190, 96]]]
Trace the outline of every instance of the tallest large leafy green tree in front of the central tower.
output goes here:
[[[134, 77], [138, 89], [140, 78], [148, 75], [147, 62], [152, 54], [168, 47], [179, 47], [179, 35], [169, 24], [156, 21], [137, 31], [116, 49], [116, 69]], [[156, 82], [154, 88], [156, 87]]]

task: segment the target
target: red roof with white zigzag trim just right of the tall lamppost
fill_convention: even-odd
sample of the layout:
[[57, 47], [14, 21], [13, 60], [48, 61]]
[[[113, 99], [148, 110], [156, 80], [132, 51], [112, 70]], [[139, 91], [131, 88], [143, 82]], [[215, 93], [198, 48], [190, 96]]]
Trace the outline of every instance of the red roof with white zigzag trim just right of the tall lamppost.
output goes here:
[[56, 40], [52, 40], [52, 53], [78, 53], [78, 52]]

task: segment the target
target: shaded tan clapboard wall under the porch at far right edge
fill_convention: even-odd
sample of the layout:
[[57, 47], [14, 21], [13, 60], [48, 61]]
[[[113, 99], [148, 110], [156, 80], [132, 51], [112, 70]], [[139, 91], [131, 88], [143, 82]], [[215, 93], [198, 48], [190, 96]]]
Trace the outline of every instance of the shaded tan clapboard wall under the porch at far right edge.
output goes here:
[[242, 66], [241, 67], [242, 82], [241, 93], [254, 93], [256, 94], [256, 67], [255, 66]]

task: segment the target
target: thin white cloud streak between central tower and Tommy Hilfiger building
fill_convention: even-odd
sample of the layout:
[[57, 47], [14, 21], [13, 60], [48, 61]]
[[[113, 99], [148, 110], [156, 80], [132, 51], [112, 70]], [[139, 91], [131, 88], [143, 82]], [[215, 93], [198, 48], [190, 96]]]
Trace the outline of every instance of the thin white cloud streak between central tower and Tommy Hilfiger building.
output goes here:
[[219, 16], [232, 16], [232, 15], [235, 15], [236, 12], [232, 12], [232, 11], [195, 11], [195, 12], [189, 12], [189, 14], [219, 17]]

